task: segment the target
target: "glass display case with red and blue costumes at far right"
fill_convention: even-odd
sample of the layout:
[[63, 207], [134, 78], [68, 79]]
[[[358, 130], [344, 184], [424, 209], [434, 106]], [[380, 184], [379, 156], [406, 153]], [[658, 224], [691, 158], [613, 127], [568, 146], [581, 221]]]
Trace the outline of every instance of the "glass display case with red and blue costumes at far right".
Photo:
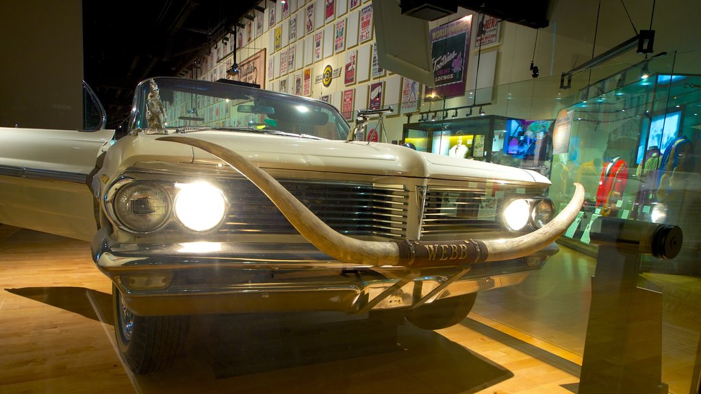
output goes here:
[[550, 196], [556, 203], [564, 203], [573, 182], [587, 191], [580, 218], [566, 238], [588, 244], [590, 224], [599, 216], [674, 224], [684, 233], [682, 252], [673, 263], [654, 266], [669, 273], [701, 273], [694, 264], [701, 257], [696, 159], [701, 76], [636, 76], [594, 97], [591, 92], [585, 90], [587, 100], [567, 108], [573, 113], [570, 148], [554, 155]]

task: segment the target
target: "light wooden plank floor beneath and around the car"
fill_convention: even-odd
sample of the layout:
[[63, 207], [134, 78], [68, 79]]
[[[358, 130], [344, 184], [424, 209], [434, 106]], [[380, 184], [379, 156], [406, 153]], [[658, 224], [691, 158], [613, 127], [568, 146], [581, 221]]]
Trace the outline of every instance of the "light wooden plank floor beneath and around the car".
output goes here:
[[[88, 243], [21, 230], [0, 240], [0, 393], [572, 393], [594, 263], [569, 250], [558, 256], [523, 285], [481, 294], [446, 330], [407, 324], [368, 334], [365, 321], [352, 321], [348, 342], [328, 351], [320, 337], [336, 330], [336, 317], [273, 315], [249, 327], [204, 316], [193, 319], [170, 371], [132, 376], [114, 347], [111, 284]], [[261, 330], [278, 333], [285, 348], [252, 346], [248, 358], [232, 338]], [[239, 358], [256, 361], [242, 367]]]

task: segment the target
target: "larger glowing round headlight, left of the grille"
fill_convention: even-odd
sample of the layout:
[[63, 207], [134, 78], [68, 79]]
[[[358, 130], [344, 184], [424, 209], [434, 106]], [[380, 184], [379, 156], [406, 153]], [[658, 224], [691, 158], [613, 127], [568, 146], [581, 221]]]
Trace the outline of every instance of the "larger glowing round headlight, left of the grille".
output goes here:
[[193, 231], [209, 231], [224, 220], [226, 198], [221, 190], [200, 182], [176, 184], [175, 217]]

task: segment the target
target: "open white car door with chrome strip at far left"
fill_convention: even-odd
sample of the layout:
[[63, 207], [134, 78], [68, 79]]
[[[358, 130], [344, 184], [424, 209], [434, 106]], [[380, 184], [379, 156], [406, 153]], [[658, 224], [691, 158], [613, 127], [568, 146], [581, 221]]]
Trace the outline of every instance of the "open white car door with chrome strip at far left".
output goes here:
[[86, 179], [114, 130], [83, 83], [83, 130], [0, 128], [0, 224], [92, 240], [97, 225]]

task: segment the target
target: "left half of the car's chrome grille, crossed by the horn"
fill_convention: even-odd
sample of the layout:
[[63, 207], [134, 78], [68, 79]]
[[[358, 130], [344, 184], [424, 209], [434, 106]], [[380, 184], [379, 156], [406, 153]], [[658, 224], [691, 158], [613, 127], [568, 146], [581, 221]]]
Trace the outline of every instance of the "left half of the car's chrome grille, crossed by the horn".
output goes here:
[[[405, 237], [409, 193], [403, 188], [292, 180], [281, 180], [280, 184], [340, 233]], [[220, 233], [297, 233], [278, 208], [247, 179], [231, 179], [224, 186], [230, 208]]]

